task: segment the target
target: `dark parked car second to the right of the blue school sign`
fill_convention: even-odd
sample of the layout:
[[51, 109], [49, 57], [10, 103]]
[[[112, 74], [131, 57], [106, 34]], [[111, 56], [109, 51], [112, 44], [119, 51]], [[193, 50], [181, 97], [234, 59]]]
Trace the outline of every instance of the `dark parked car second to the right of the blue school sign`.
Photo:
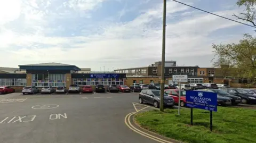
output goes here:
[[239, 96], [235, 96], [235, 95], [231, 95], [228, 92], [225, 92], [223, 90], [220, 89], [205, 89], [206, 91], [213, 91], [215, 93], [217, 93], [219, 96], [224, 96], [224, 97], [229, 97], [231, 99], [231, 104], [232, 105], [237, 105], [239, 103], [241, 103], [242, 98]]

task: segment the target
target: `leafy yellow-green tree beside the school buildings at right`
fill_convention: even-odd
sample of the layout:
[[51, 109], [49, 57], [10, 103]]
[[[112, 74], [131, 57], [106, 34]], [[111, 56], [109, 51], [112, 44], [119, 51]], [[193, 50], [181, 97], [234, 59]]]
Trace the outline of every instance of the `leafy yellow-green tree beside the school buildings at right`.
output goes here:
[[229, 64], [234, 77], [247, 78], [256, 83], [256, 37], [246, 34], [237, 44], [213, 44], [213, 49], [215, 56], [218, 56], [215, 64]]

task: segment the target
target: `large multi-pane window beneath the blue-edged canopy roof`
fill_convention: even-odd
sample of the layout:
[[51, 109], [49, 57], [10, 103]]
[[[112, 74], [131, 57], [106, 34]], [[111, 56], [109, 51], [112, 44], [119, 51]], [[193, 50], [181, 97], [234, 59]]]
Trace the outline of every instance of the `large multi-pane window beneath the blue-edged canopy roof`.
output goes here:
[[66, 86], [65, 74], [32, 74], [32, 85], [43, 86]]

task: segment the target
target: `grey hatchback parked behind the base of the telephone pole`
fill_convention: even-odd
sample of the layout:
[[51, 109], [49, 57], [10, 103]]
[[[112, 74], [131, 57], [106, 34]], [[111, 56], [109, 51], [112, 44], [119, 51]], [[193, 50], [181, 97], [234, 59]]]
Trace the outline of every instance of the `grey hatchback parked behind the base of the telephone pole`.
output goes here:
[[[159, 107], [160, 103], [160, 91], [159, 90], [141, 90], [139, 94], [139, 103], [148, 103], [154, 105], [156, 108]], [[172, 107], [174, 105], [174, 100], [172, 97], [164, 94], [164, 106]]]

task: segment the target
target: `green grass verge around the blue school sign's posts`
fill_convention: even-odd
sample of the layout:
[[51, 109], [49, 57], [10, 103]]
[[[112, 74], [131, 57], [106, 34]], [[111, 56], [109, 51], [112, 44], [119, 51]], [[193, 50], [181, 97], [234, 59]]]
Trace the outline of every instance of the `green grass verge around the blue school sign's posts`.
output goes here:
[[189, 109], [182, 109], [180, 116], [177, 109], [139, 113], [135, 121], [145, 129], [183, 142], [256, 142], [256, 110], [218, 107], [218, 112], [213, 112], [212, 132], [209, 111], [194, 109], [193, 114], [193, 126], [190, 126]]

